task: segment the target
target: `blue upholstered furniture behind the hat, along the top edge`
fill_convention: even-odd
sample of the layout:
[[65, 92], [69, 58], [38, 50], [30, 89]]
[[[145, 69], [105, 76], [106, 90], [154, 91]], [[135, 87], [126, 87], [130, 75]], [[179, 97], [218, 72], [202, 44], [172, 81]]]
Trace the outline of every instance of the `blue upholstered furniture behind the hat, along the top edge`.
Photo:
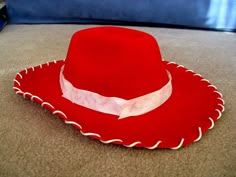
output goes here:
[[6, 0], [10, 23], [141, 22], [236, 29], [235, 0]]

